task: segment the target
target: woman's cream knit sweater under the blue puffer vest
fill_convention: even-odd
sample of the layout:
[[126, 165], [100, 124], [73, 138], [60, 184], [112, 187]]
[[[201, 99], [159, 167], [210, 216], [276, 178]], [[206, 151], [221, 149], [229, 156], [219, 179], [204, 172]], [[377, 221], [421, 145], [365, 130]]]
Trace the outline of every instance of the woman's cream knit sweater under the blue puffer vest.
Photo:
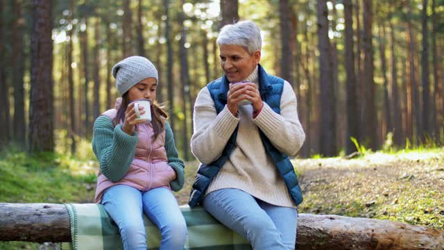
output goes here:
[[[257, 67], [244, 81], [259, 85]], [[207, 87], [200, 90], [194, 105], [194, 134], [191, 151], [200, 163], [208, 164], [221, 156], [225, 144], [239, 124], [236, 144], [206, 194], [223, 188], [244, 190], [253, 197], [275, 206], [296, 207], [283, 178], [267, 155], [259, 129], [282, 153], [296, 156], [305, 140], [298, 119], [296, 95], [285, 81], [280, 101], [280, 115], [264, 103], [253, 119], [253, 106], [239, 106], [239, 118], [227, 106], [217, 115]]]

